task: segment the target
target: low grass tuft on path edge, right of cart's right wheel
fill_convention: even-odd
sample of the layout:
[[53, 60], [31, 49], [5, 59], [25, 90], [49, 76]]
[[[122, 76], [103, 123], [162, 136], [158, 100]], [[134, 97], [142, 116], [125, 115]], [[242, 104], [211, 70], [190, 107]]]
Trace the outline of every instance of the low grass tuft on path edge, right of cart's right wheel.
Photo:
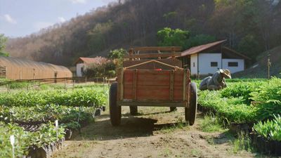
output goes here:
[[212, 117], [211, 114], [205, 115], [200, 121], [200, 130], [204, 132], [224, 131], [217, 117]]

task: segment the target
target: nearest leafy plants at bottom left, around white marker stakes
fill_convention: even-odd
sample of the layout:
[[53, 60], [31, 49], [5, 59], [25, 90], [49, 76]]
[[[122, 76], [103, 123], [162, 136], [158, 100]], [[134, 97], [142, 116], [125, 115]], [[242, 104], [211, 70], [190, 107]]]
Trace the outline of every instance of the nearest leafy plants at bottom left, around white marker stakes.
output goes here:
[[23, 157], [28, 154], [29, 147], [43, 147], [64, 138], [65, 129], [58, 128], [58, 138], [55, 126], [52, 122], [42, 124], [38, 131], [25, 131], [16, 124], [5, 124], [0, 121], [0, 157], [12, 157], [10, 136], [15, 136], [15, 157]]

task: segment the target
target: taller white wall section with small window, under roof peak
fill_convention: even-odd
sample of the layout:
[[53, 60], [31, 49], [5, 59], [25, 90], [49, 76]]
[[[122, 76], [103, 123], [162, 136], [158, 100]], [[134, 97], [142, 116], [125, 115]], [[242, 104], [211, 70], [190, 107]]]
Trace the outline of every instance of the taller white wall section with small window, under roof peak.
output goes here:
[[[199, 53], [199, 74], [214, 74], [221, 68], [221, 53]], [[211, 62], [218, 62], [217, 67], [211, 67]]]

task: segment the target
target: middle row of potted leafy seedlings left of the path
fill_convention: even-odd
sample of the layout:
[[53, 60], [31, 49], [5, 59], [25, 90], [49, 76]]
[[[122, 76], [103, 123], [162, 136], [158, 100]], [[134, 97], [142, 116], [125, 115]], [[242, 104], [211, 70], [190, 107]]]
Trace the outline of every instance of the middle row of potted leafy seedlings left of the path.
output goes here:
[[[34, 107], [0, 106], [0, 121], [18, 124], [43, 124], [58, 119], [67, 129], [79, 129], [81, 124], [93, 121], [95, 107], [67, 107], [46, 105]], [[73, 123], [77, 122], [78, 125]]]

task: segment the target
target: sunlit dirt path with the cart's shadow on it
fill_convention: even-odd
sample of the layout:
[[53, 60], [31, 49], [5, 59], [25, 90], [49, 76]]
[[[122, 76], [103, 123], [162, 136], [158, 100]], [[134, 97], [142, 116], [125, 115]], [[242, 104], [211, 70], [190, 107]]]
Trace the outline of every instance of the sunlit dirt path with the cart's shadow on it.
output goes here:
[[53, 157], [254, 157], [246, 151], [234, 154], [227, 132], [200, 131], [200, 114], [194, 126], [186, 126], [183, 108], [141, 107], [138, 117], [122, 108], [121, 126], [112, 127], [105, 112]]

